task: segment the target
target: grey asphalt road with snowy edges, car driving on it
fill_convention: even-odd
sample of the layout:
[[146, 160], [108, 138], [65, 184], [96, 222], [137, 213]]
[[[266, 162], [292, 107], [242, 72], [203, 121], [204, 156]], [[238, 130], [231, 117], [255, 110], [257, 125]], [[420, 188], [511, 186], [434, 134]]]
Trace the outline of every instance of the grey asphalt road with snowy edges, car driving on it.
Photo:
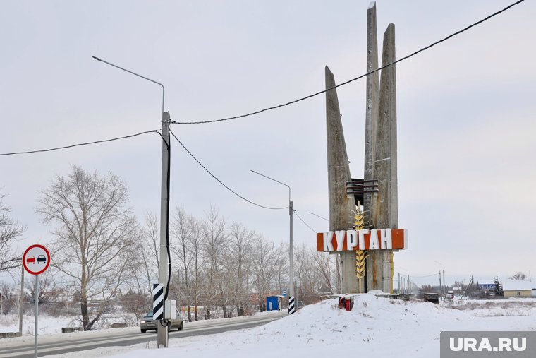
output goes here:
[[[178, 332], [173, 330], [169, 333], [169, 339], [189, 337], [193, 335], [209, 335], [214, 333], [226, 332], [228, 330], [238, 330], [262, 326], [271, 321], [286, 316], [286, 313], [280, 312], [269, 316], [252, 316], [243, 317], [239, 320], [218, 319], [213, 321], [201, 321], [196, 323], [185, 323], [184, 330]], [[58, 335], [57, 339], [39, 342], [39, 357], [45, 357], [51, 354], [64, 354], [68, 352], [81, 352], [83, 350], [92, 350], [98, 347], [129, 346], [145, 342], [156, 342], [157, 335], [150, 331], [140, 333], [140, 330], [134, 332], [121, 331], [117, 334], [113, 332], [105, 336], [83, 337], [84, 333], [71, 333], [68, 335]], [[34, 345], [32, 342], [17, 343], [16, 340], [9, 342], [7, 345], [1, 344], [0, 341], [0, 358], [33, 358]]]

